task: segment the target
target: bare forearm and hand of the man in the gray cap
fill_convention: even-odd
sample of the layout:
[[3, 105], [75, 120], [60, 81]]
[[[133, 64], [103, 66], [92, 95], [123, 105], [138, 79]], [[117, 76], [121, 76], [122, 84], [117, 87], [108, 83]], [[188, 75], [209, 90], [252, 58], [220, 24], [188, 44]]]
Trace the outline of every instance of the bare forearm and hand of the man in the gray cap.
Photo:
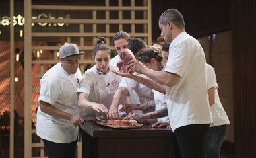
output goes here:
[[49, 114], [55, 118], [69, 120], [75, 127], [82, 126], [84, 124], [84, 120], [79, 116], [63, 112], [62, 110], [59, 110], [55, 106], [52, 106], [51, 104], [42, 100], [40, 100], [40, 109], [42, 112]]

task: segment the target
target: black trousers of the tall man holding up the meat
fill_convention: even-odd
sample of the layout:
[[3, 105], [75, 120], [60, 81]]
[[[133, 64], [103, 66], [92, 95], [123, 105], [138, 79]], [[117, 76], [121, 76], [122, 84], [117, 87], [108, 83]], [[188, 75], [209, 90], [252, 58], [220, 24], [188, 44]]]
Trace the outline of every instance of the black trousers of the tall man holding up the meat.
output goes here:
[[204, 141], [209, 124], [191, 124], [174, 131], [174, 150], [176, 157], [204, 158]]

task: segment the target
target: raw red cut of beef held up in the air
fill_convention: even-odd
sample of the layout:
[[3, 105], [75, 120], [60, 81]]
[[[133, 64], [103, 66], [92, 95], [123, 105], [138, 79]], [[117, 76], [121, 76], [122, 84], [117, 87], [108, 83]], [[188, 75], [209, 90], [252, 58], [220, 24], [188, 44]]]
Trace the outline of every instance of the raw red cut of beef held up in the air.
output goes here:
[[123, 50], [122, 57], [123, 57], [123, 61], [117, 62], [117, 67], [118, 67], [119, 71], [121, 71], [122, 73], [128, 73], [128, 70], [126, 68], [128, 65], [128, 62], [132, 59], [136, 60], [136, 58], [133, 55], [133, 52], [131, 52], [131, 50], [129, 50], [129, 49]]

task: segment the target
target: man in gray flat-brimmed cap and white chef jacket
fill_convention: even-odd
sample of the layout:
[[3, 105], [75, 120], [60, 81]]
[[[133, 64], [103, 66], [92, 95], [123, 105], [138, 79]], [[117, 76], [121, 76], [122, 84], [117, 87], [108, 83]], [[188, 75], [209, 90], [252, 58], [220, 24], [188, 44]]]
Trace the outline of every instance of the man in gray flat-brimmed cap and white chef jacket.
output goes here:
[[75, 157], [79, 126], [76, 90], [82, 79], [80, 55], [76, 44], [59, 49], [61, 62], [49, 69], [40, 80], [40, 106], [37, 112], [36, 134], [44, 142], [48, 157]]

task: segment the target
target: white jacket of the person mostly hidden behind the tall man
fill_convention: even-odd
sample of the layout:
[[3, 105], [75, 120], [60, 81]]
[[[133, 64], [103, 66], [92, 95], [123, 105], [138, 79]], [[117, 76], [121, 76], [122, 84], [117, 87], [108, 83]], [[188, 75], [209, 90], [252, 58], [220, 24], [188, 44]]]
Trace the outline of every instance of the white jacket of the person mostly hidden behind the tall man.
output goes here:
[[213, 122], [210, 124], [212, 126], [220, 126], [224, 124], [230, 124], [228, 120], [228, 116], [220, 102], [220, 97], [218, 95], [218, 83], [216, 79], [216, 75], [214, 72], [214, 68], [211, 65], [206, 64], [206, 75], [207, 75], [207, 89], [214, 87], [214, 99], [215, 103], [210, 106], [210, 110], [212, 112], [212, 120]]

